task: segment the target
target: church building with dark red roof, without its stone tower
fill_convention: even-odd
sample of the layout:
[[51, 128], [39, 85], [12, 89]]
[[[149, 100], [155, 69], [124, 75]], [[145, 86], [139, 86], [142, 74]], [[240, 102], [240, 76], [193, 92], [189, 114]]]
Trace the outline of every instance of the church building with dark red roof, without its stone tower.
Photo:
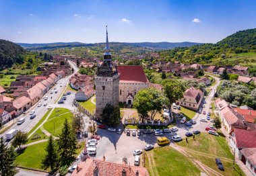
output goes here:
[[143, 88], [149, 87], [149, 81], [141, 65], [117, 66], [119, 72], [119, 102], [132, 105], [134, 96]]

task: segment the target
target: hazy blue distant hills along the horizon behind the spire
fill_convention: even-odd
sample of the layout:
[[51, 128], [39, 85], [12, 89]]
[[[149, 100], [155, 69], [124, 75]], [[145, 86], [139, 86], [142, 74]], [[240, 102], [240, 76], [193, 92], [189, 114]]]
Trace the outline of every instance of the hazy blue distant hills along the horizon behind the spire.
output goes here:
[[[98, 44], [86, 44], [81, 42], [56, 42], [56, 43], [47, 43], [47, 44], [26, 44], [26, 43], [17, 43], [20, 46], [28, 49], [28, 50], [52, 50], [56, 48], [65, 48], [65, 47], [81, 47], [81, 46], [98, 46], [104, 43]], [[152, 50], [164, 50], [164, 49], [172, 49], [175, 47], [185, 47], [185, 46], [193, 46], [196, 44], [195, 42], [139, 42], [139, 43], [127, 43], [127, 42], [110, 42], [111, 44], [119, 45], [119, 46], [135, 46], [142, 48], [150, 48]]]

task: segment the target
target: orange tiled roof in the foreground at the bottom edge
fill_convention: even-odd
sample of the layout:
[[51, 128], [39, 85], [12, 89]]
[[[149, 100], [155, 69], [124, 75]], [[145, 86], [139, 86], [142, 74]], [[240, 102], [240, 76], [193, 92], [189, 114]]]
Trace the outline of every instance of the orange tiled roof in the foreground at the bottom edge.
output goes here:
[[79, 163], [77, 169], [71, 174], [71, 176], [94, 175], [149, 176], [149, 173], [145, 167], [113, 163], [105, 161], [105, 159], [88, 158], [86, 161]]

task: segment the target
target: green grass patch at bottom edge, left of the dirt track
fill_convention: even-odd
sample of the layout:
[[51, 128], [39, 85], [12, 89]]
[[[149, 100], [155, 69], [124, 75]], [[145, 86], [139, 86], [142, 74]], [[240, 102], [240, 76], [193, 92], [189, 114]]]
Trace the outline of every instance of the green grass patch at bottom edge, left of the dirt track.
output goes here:
[[146, 152], [150, 175], [200, 175], [199, 169], [177, 150], [166, 146]]

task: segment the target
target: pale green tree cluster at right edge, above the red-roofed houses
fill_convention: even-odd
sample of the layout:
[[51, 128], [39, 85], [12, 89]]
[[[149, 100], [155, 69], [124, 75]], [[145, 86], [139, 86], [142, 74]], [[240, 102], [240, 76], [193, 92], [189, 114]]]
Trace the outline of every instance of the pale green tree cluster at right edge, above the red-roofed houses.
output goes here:
[[234, 105], [249, 105], [256, 108], [256, 88], [254, 85], [224, 80], [217, 87], [217, 95]]

